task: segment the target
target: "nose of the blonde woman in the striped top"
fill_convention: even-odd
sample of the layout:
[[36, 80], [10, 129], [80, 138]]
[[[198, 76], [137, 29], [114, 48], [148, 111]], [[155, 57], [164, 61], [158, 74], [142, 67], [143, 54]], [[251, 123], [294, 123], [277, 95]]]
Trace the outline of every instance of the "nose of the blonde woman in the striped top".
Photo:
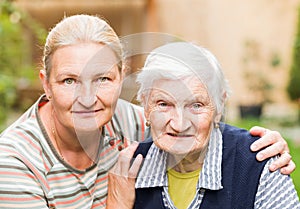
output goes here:
[[97, 102], [96, 92], [89, 84], [83, 84], [78, 89], [77, 101], [85, 108], [93, 107]]

